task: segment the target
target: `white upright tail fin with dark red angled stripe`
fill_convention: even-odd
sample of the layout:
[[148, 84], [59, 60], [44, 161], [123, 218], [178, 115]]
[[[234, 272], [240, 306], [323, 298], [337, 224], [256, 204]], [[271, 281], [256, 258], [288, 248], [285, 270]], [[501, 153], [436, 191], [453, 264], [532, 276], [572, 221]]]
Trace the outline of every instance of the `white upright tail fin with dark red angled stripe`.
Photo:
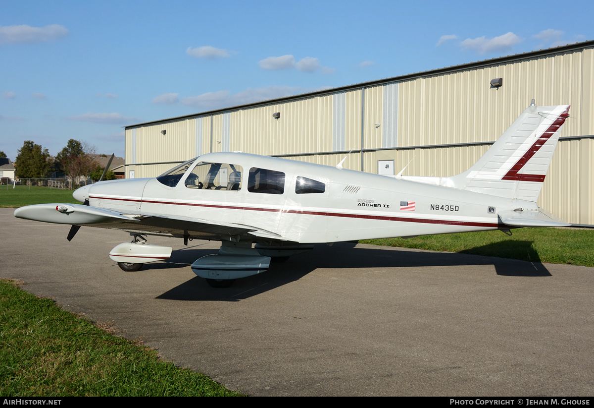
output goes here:
[[530, 105], [475, 165], [440, 184], [536, 202], [569, 107]]

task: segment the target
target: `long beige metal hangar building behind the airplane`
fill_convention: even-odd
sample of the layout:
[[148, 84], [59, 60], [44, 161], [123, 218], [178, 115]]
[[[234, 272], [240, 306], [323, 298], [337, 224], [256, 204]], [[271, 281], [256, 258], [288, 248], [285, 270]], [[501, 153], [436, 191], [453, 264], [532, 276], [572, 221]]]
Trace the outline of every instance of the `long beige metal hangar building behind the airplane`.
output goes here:
[[[571, 105], [539, 206], [594, 226], [594, 41], [125, 127], [125, 175], [240, 150], [344, 168], [450, 176], [527, 108]], [[352, 152], [351, 152], [352, 150]]]

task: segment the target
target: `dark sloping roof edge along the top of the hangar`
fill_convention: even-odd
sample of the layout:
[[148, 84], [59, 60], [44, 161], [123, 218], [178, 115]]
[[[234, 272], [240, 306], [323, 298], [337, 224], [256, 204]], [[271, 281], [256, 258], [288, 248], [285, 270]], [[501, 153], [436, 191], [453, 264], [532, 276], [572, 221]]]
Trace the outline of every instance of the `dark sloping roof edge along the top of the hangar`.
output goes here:
[[124, 128], [131, 128], [131, 127], [137, 127], [137, 126], [141, 126], [141, 125], [165, 123], [165, 122], [178, 121], [181, 119], [189, 119], [189, 118], [213, 115], [213, 114], [218, 114], [221, 112], [236, 111], [238, 109], [243, 109], [243, 108], [253, 108], [255, 106], [270, 105], [271, 103], [274, 103], [274, 102], [285, 102], [285, 101], [291, 101], [294, 99], [311, 98], [312, 96], [315, 96], [315, 95], [327, 95], [328, 93], [335, 93], [335, 92], [341, 92], [341, 91], [345, 91], [345, 90], [358, 89], [361, 87], [377, 86], [377, 85], [392, 83], [392, 82], [397, 82], [397, 81], [403, 81], [403, 80], [409, 80], [409, 79], [415, 79], [415, 78], [427, 77], [427, 76], [434, 76], [434, 75], [444, 74], [444, 73], [453, 72], [453, 71], [467, 70], [469, 68], [486, 67], [488, 65], [501, 64], [501, 63], [505, 63], [505, 62], [517, 61], [517, 60], [526, 59], [526, 58], [541, 57], [543, 55], [558, 54], [559, 52], [574, 51], [576, 49], [589, 48], [589, 47], [593, 47], [593, 46], [594, 46], [594, 40], [577, 42], [577, 43], [562, 45], [562, 46], [558, 46], [558, 47], [554, 47], [554, 48], [546, 48], [546, 49], [540, 49], [538, 51], [524, 52], [522, 54], [507, 55], [506, 57], [485, 59], [483, 61], [469, 62], [467, 64], [452, 65], [451, 67], [438, 68], [437, 70], [422, 71], [422, 72], [418, 72], [418, 73], [406, 74], [406, 75], [401, 75], [401, 76], [397, 76], [397, 77], [384, 78], [384, 79], [379, 79], [379, 80], [374, 80], [374, 81], [362, 82], [362, 83], [358, 83], [358, 84], [341, 86], [341, 87], [337, 87], [337, 88], [324, 89], [324, 90], [320, 90], [320, 91], [316, 91], [316, 92], [308, 92], [308, 93], [301, 93], [299, 95], [285, 96], [284, 98], [268, 99], [267, 101], [246, 103], [245, 105], [229, 106], [227, 108], [214, 109], [213, 111], [204, 111], [204, 112], [199, 112], [196, 114], [183, 115], [183, 116], [178, 116], [178, 117], [173, 117], [173, 118], [168, 118], [168, 119], [161, 119], [161, 120], [149, 121], [149, 122], [144, 122], [144, 123], [138, 123], [138, 124], [134, 124], [134, 125], [125, 126]]

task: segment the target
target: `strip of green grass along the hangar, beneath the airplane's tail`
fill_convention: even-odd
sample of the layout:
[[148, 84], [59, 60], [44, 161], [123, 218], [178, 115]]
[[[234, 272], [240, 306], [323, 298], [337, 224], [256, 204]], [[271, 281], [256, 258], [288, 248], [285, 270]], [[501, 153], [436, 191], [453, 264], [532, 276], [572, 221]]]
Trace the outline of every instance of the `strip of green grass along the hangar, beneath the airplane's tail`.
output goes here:
[[577, 228], [519, 228], [512, 236], [501, 231], [386, 238], [365, 244], [397, 246], [497, 256], [530, 262], [594, 266], [594, 230]]

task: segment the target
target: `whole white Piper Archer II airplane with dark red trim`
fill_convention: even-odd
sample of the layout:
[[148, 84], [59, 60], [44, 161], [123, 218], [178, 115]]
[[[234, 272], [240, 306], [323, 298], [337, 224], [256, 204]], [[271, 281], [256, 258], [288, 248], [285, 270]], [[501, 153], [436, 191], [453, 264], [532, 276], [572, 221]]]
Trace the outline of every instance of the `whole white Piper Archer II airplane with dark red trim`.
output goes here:
[[[40, 204], [18, 218], [128, 231], [109, 257], [124, 271], [168, 259], [158, 235], [220, 240], [192, 263], [213, 287], [266, 271], [314, 243], [568, 226], [536, 205], [569, 106], [532, 104], [469, 170], [453, 177], [368, 174], [245, 153], [208, 153], [156, 178], [76, 190], [84, 205]], [[255, 244], [255, 246], [254, 246]]]

